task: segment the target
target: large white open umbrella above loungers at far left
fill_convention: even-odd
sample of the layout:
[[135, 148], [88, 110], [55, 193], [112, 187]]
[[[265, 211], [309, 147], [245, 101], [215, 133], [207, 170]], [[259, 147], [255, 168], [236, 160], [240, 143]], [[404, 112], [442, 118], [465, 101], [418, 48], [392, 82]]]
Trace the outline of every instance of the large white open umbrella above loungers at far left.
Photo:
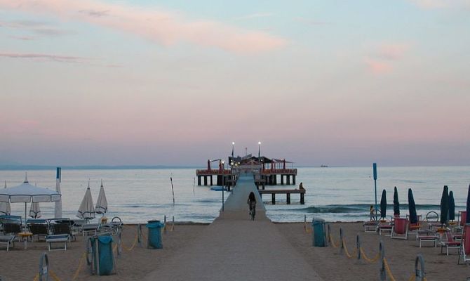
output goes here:
[[0, 202], [25, 203], [25, 221], [26, 204], [29, 202], [56, 202], [60, 200], [60, 194], [49, 190], [48, 188], [40, 188], [39, 186], [30, 185], [27, 177], [25, 181], [13, 188], [5, 188], [0, 191]]

